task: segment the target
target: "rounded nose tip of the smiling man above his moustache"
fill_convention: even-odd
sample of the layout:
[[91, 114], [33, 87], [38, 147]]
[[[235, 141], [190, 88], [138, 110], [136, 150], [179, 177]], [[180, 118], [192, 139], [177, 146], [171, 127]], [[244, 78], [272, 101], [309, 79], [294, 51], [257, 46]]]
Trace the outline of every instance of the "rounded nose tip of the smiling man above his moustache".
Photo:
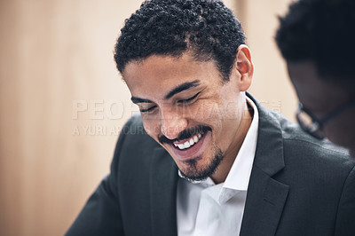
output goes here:
[[161, 131], [169, 139], [175, 139], [178, 134], [187, 128], [187, 120], [181, 114], [165, 112], [161, 114]]

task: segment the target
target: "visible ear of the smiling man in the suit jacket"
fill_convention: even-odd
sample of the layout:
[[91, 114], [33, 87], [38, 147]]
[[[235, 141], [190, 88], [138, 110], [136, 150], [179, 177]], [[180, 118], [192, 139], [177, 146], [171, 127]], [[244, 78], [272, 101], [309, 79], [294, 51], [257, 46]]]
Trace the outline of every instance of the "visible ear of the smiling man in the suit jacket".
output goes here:
[[241, 44], [237, 49], [234, 69], [238, 70], [241, 75], [239, 78], [240, 90], [248, 90], [254, 75], [254, 64], [251, 61], [251, 52], [245, 44]]

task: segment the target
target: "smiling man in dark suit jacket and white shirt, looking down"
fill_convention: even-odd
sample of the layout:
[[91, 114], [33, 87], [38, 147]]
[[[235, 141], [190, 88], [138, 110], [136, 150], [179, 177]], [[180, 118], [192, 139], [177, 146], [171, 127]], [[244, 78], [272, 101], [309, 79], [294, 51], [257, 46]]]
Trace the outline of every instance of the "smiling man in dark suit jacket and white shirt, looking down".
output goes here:
[[141, 115], [67, 235], [355, 232], [354, 162], [246, 93], [251, 53], [222, 2], [145, 2], [114, 59]]

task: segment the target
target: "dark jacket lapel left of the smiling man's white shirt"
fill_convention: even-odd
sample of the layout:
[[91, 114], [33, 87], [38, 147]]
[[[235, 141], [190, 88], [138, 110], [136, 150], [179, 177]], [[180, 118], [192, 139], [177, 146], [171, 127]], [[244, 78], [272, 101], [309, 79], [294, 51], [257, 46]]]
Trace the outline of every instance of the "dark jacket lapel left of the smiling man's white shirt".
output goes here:
[[152, 235], [177, 235], [177, 167], [162, 147], [150, 165]]

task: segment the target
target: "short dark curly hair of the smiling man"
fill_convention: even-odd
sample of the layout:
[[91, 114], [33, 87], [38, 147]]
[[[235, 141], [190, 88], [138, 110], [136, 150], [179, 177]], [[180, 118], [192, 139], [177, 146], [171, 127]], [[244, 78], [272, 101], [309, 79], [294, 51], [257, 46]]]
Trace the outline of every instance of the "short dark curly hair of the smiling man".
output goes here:
[[114, 60], [122, 73], [132, 60], [151, 55], [215, 60], [229, 80], [237, 48], [245, 43], [241, 22], [217, 0], [151, 0], [125, 21], [114, 47]]

